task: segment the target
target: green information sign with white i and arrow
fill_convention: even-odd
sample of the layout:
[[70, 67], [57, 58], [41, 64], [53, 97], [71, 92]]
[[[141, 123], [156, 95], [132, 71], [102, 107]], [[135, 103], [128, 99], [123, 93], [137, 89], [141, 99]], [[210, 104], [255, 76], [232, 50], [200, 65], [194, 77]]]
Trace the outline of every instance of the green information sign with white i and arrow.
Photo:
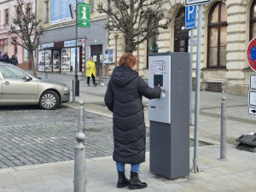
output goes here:
[[79, 3], [79, 26], [90, 27], [90, 4]]

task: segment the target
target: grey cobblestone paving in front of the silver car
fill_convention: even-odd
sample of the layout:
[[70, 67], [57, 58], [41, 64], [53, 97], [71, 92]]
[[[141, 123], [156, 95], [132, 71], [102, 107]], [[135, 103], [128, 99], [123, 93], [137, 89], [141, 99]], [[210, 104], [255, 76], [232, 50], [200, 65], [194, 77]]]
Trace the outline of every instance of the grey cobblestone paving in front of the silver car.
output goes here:
[[[102, 103], [95, 103], [96, 106], [104, 108]], [[38, 107], [0, 109], [0, 168], [73, 160], [77, 109], [66, 106], [53, 111]], [[112, 155], [111, 118], [85, 113], [85, 135], [86, 158]], [[147, 150], [148, 136], [147, 129]]]

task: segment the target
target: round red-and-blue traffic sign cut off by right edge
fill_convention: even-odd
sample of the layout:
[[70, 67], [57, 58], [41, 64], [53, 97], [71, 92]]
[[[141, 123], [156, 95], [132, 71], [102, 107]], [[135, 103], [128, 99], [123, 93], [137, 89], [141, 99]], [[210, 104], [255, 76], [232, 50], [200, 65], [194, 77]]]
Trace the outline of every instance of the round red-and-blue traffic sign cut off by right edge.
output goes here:
[[247, 63], [256, 72], [256, 37], [247, 46]]

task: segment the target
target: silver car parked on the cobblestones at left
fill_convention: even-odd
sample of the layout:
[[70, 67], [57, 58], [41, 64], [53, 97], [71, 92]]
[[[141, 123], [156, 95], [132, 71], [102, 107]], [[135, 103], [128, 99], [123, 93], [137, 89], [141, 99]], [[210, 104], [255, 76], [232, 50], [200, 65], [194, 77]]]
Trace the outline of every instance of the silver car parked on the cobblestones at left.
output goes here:
[[0, 61], [0, 106], [38, 104], [51, 110], [69, 102], [69, 97], [67, 84], [35, 78], [19, 67]]

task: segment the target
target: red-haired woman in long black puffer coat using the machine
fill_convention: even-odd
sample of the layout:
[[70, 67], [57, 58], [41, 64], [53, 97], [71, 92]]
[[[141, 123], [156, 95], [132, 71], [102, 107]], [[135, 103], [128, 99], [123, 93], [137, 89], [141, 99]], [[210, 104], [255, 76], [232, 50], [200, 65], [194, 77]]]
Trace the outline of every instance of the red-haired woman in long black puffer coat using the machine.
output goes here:
[[[145, 161], [146, 127], [143, 96], [160, 97], [160, 86], [151, 88], [136, 72], [137, 59], [125, 53], [119, 67], [113, 70], [105, 94], [105, 104], [113, 112], [113, 160], [118, 171], [118, 188], [143, 189], [148, 185], [140, 181], [140, 164]], [[131, 164], [131, 180], [125, 177], [125, 164]]]

